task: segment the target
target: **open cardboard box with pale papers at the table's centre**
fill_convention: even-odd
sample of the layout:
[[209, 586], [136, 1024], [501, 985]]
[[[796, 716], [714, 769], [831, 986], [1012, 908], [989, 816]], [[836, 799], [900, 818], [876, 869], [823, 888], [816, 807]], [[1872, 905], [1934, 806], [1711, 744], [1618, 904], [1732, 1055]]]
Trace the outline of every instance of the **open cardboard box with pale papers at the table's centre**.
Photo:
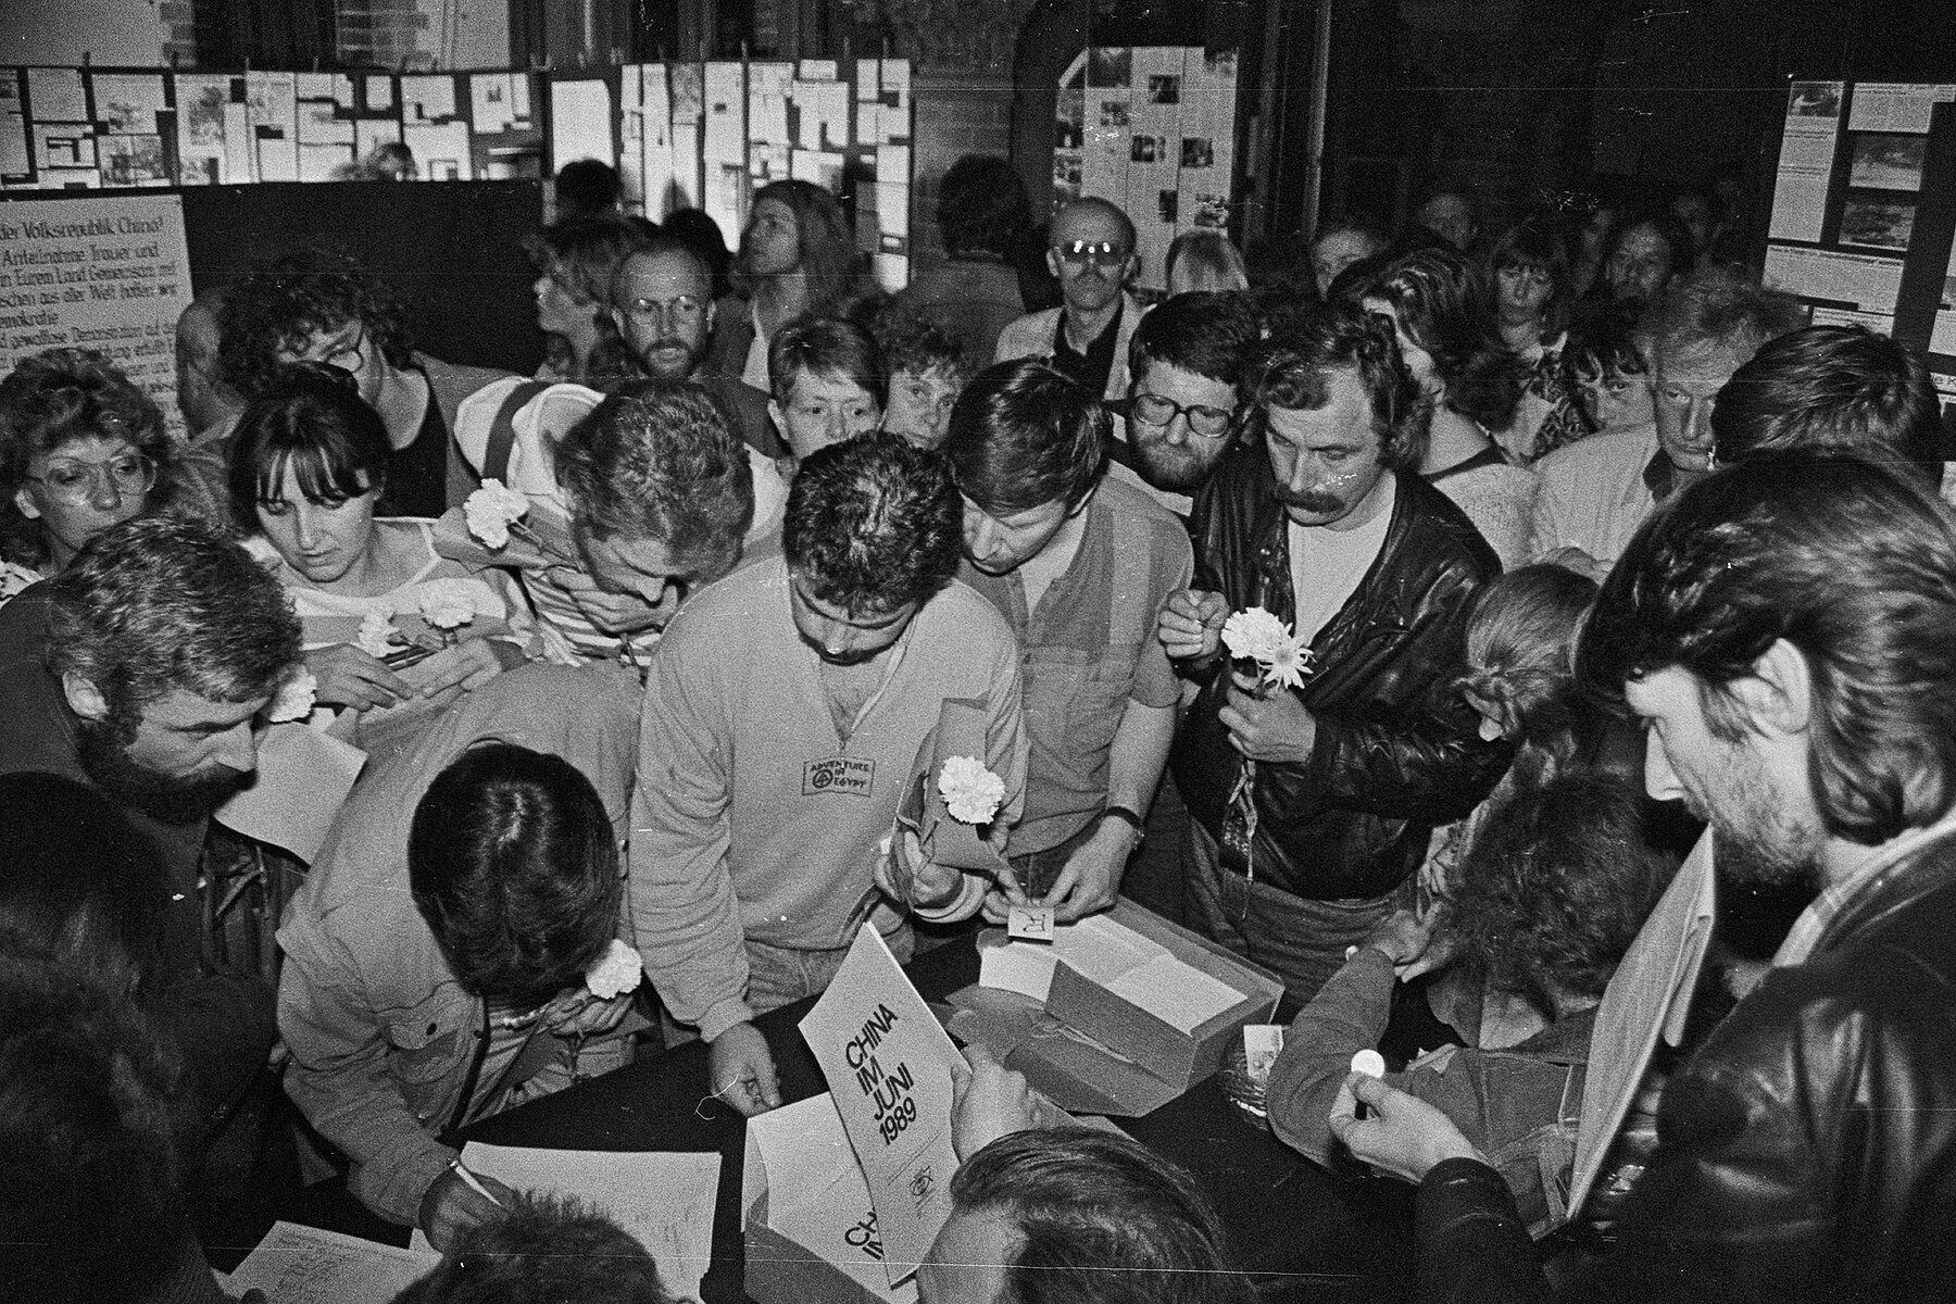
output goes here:
[[[1222, 1065], [1244, 1024], [1269, 1022], [1283, 981], [1160, 915], [1119, 901], [1107, 917], [1158, 942], [1183, 964], [1240, 995], [1183, 1030], [1068, 964], [1058, 964], [1045, 1003], [1017, 991], [964, 987], [951, 1030], [980, 1042], [1070, 1112], [1123, 1118], [1152, 1112]], [[1005, 935], [988, 929], [980, 946]]]

